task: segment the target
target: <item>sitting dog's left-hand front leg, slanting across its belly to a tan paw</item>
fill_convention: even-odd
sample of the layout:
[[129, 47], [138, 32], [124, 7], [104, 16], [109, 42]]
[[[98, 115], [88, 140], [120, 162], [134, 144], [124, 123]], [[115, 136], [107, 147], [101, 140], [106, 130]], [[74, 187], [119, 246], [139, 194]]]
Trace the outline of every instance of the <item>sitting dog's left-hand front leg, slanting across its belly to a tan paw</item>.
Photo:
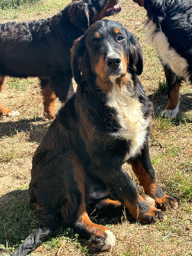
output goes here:
[[108, 186], [112, 194], [115, 195], [115, 198], [129, 210], [136, 220], [144, 223], [163, 220], [164, 213], [145, 202], [138, 193], [134, 181], [127, 172], [119, 167], [121, 164], [117, 163], [118, 159], [113, 159], [112, 165], [111, 159], [109, 159], [108, 163], [105, 163], [105, 166], [100, 167], [92, 163], [89, 171], [92, 175], [97, 175]]

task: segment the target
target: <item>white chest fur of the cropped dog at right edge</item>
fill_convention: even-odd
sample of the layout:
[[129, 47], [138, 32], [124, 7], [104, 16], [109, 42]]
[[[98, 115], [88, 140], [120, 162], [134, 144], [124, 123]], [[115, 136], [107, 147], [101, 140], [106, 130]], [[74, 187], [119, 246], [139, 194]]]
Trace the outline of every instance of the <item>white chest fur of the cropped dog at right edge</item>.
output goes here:
[[157, 26], [154, 22], [147, 25], [147, 40], [153, 43], [158, 51], [159, 57], [163, 60], [163, 64], [169, 65], [173, 72], [179, 77], [189, 79], [188, 62], [182, 58], [170, 44], [160, 29], [156, 32]]

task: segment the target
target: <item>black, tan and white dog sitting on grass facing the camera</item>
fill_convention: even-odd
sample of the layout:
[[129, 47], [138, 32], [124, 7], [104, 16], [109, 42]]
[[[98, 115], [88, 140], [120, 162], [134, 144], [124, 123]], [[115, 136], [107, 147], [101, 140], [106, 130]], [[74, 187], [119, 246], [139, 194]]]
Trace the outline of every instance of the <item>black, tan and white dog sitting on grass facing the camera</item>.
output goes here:
[[[92, 246], [109, 250], [115, 236], [93, 223], [88, 210], [125, 207], [153, 223], [163, 220], [161, 210], [177, 207], [157, 185], [150, 161], [152, 104], [137, 77], [143, 60], [136, 38], [118, 22], [97, 21], [72, 47], [72, 70], [77, 92], [33, 156], [29, 194], [39, 227], [13, 256], [34, 250], [60, 218]], [[125, 161], [159, 209], [139, 195]]]

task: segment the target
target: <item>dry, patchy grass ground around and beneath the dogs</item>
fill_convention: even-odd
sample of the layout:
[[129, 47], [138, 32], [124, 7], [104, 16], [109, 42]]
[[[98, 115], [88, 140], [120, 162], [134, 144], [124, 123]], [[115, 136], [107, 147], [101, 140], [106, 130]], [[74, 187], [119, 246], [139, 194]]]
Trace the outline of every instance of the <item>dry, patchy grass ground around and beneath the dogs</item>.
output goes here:
[[[0, 10], [1, 22], [50, 17], [67, 2], [44, 0], [18, 10]], [[113, 19], [122, 22], [140, 40], [145, 67], [140, 79], [154, 102], [150, 154], [157, 180], [166, 193], [179, 200], [179, 208], [167, 211], [166, 220], [154, 225], [141, 225], [131, 216], [124, 216], [124, 213], [122, 218], [110, 221], [93, 219], [108, 225], [116, 235], [116, 246], [111, 252], [90, 248], [86, 241], [63, 225], [31, 253], [33, 256], [192, 255], [192, 89], [189, 84], [182, 87], [180, 115], [177, 118], [163, 120], [159, 117], [159, 111], [166, 104], [166, 95], [157, 90], [159, 84], [164, 83], [164, 74], [155, 49], [145, 42], [145, 10], [132, 0], [122, 0], [121, 6], [122, 13]], [[5, 106], [20, 111], [20, 116], [0, 120], [0, 255], [5, 255], [7, 251], [12, 252], [36, 227], [28, 204], [31, 158], [51, 121], [43, 117], [38, 79], [6, 79], [1, 101]], [[60, 108], [60, 102], [56, 103], [56, 108]], [[127, 164], [125, 170], [131, 173]], [[135, 179], [132, 173], [131, 177]], [[139, 185], [138, 188], [142, 191]]]

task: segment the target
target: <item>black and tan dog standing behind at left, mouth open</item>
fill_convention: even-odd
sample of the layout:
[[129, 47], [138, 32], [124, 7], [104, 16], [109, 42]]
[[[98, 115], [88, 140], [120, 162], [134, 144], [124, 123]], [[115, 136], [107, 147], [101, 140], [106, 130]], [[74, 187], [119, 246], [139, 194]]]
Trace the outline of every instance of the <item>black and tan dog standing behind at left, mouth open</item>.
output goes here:
[[[54, 102], [65, 102], [72, 88], [70, 49], [75, 39], [106, 16], [120, 12], [118, 0], [80, 0], [49, 19], [0, 24], [0, 92], [5, 76], [39, 77], [44, 115], [54, 118]], [[19, 115], [0, 102], [0, 113]]]

